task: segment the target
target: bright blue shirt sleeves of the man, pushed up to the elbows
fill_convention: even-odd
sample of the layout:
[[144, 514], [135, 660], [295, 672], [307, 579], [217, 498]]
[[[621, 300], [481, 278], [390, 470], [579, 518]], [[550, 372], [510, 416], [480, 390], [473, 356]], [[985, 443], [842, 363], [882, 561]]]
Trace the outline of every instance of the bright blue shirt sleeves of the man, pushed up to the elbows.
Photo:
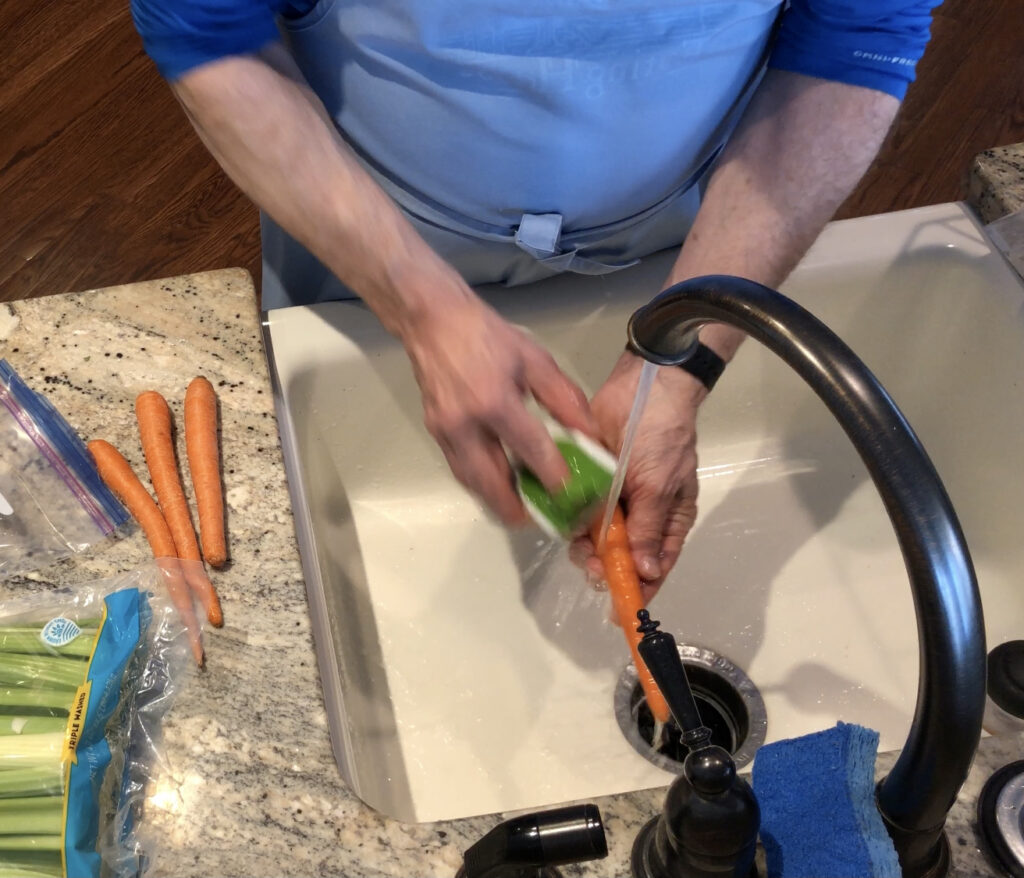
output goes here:
[[[940, 0], [792, 0], [769, 67], [861, 85], [902, 98]], [[315, 0], [132, 0], [146, 52], [164, 77], [256, 52], [278, 39], [279, 17]]]

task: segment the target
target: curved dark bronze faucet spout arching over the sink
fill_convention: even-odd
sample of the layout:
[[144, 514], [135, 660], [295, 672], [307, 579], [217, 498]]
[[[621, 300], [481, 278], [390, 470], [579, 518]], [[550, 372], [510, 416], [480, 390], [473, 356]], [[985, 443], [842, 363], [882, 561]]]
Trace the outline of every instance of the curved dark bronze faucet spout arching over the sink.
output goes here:
[[942, 828], [971, 767], [985, 705], [981, 598], [952, 504], [878, 379], [823, 323], [774, 290], [725, 276], [684, 281], [633, 315], [630, 346], [650, 362], [678, 364], [711, 322], [742, 329], [801, 375], [882, 495], [910, 578], [921, 662], [910, 731], [878, 804], [903, 874], [944, 874]]

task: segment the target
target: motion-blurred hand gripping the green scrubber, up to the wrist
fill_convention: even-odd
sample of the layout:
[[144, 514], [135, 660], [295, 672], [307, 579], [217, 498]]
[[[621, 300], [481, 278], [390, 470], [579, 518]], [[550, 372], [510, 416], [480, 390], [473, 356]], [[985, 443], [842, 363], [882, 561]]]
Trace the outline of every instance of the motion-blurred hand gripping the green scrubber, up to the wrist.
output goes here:
[[551, 491], [569, 474], [526, 395], [565, 426], [596, 435], [586, 394], [541, 345], [473, 295], [431, 309], [401, 337], [424, 422], [452, 472], [506, 525], [523, 524], [506, 449]]

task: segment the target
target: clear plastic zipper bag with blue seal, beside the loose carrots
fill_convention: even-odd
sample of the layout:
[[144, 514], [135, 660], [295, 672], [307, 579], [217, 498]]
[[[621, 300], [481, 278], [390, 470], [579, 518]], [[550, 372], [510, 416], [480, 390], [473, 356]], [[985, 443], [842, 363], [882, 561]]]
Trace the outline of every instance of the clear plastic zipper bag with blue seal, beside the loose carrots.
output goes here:
[[80, 552], [128, 521], [85, 444], [0, 360], [0, 579]]

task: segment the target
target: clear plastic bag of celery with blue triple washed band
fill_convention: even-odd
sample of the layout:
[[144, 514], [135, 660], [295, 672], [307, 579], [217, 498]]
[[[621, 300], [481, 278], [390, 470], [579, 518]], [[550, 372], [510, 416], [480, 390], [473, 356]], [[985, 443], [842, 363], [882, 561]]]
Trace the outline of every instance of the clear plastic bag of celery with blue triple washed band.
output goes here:
[[164, 576], [151, 565], [0, 609], [0, 876], [93, 878], [139, 858], [138, 779], [191, 667]]

